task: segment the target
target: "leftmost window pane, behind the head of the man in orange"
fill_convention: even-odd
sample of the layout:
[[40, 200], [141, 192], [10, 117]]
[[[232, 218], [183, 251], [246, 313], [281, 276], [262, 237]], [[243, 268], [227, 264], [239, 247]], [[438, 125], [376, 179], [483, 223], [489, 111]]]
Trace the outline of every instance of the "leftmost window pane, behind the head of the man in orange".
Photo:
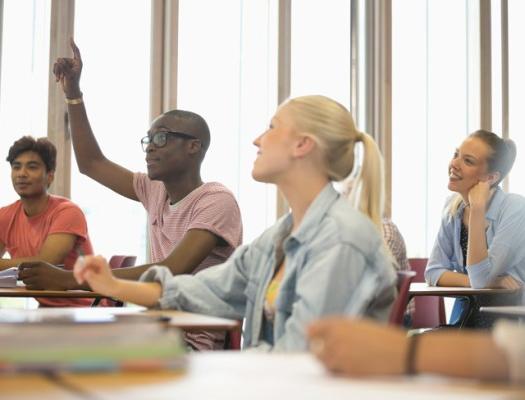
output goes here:
[[47, 136], [50, 1], [4, 1], [0, 82], [1, 204], [18, 199], [5, 157], [24, 135]]

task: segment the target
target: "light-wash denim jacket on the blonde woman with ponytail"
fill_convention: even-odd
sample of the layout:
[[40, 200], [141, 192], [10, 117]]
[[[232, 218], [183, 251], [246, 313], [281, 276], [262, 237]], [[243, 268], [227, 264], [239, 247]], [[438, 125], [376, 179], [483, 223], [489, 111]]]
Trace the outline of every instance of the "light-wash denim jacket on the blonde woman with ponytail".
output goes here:
[[[225, 263], [196, 275], [173, 277], [167, 268], [155, 266], [141, 279], [161, 283], [162, 308], [246, 318], [244, 347], [306, 350], [308, 324], [325, 315], [388, 319], [396, 275], [368, 217], [328, 184], [290, 234], [291, 227], [288, 214]], [[286, 267], [268, 332], [263, 307], [280, 244]]]

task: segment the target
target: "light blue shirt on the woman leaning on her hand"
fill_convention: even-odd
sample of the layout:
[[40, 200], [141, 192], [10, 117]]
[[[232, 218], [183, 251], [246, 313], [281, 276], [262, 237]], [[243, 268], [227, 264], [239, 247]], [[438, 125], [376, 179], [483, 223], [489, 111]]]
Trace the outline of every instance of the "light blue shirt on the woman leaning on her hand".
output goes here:
[[454, 216], [445, 211], [425, 270], [427, 283], [436, 286], [446, 271], [468, 274], [471, 287], [476, 289], [488, 287], [504, 275], [525, 282], [525, 198], [496, 189], [485, 214], [488, 257], [466, 268], [460, 245], [464, 209], [461, 204]]

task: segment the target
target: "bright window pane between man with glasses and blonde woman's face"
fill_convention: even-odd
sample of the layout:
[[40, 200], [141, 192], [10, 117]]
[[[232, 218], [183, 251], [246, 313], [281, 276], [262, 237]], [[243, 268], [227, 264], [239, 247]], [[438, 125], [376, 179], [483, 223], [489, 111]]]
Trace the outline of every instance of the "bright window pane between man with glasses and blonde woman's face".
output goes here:
[[276, 108], [276, 10], [276, 1], [179, 2], [177, 105], [210, 126], [203, 180], [233, 191], [245, 243], [275, 221], [275, 188], [255, 182], [251, 169], [252, 142]]

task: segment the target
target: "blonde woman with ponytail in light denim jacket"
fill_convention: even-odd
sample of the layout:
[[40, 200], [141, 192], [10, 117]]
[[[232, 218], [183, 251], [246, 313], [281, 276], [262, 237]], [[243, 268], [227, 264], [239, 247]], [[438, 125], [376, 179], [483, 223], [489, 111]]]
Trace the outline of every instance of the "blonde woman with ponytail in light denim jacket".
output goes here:
[[[378, 229], [332, 187], [350, 174], [363, 142], [363, 187], [373, 187], [379, 153], [351, 114], [323, 96], [282, 104], [255, 139], [252, 176], [277, 185], [291, 212], [225, 263], [173, 277], [161, 266], [141, 280], [115, 279], [102, 257], [75, 266], [79, 283], [148, 307], [246, 318], [244, 347], [307, 349], [306, 327], [324, 315], [386, 320], [395, 274]], [[366, 190], [366, 189], [365, 189]]]

